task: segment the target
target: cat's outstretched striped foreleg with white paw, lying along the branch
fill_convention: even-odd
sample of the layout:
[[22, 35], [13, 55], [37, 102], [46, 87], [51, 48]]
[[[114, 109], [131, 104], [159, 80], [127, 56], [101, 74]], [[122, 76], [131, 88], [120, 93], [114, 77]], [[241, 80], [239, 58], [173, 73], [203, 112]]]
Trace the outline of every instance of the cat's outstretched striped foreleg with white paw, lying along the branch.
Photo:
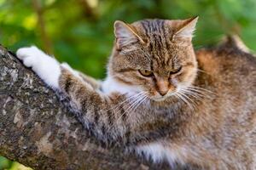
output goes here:
[[[17, 56], [24, 65], [32, 67], [51, 88], [67, 94], [75, 104], [73, 109], [82, 113], [79, 120], [84, 127], [90, 129], [105, 144], [137, 144], [143, 139], [152, 141], [163, 135], [163, 132], [155, 131], [155, 122], [171, 126], [165, 120], [157, 120], [160, 116], [148, 115], [147, 111], [141, 112], [146, 116], [129, 112], [134, 99], [142, 97], [141, 94], [130, 98], [133, 103], [129, 103], [124, 95], [102, 94], [36, 47], [20, 48]], [[152, 132], [154, 135], [151, 135]]]

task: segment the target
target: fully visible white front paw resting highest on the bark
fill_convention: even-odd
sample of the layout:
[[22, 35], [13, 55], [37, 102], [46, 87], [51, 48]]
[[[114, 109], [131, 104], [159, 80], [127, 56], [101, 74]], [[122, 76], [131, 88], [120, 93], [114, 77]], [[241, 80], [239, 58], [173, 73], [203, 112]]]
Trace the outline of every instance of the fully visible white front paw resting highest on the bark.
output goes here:
[[44, 54], [43, 51], [35, 46], [30, 48], [20, 48], [17, 51], [17, 57], [22, 60], [27, 67], [32, 67], [40, 78], [50, 87], [59, 88], [59, 77], [61, 68], [58, 61]]

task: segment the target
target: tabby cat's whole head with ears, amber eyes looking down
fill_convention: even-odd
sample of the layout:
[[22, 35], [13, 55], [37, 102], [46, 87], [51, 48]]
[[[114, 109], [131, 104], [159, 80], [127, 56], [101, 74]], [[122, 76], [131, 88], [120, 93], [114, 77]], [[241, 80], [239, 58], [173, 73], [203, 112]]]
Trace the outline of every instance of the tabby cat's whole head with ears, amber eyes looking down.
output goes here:
[[196, 20], [115, 22], [110, 76], [119, 86], [156, 101], [191, 85], [197, 70], [191, 43]]

